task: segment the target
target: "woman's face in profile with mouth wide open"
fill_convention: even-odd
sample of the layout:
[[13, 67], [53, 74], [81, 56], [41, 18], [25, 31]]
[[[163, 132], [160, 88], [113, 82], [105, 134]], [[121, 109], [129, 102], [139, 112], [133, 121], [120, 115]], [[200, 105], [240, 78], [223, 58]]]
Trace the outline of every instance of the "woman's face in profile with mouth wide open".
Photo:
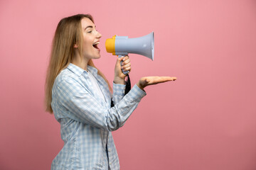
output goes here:
[[100, 43], [102, 35], [97, 32], [96, 26], [89, 18], [82, 18], [83, 55], [87, 60], [100, 58]]

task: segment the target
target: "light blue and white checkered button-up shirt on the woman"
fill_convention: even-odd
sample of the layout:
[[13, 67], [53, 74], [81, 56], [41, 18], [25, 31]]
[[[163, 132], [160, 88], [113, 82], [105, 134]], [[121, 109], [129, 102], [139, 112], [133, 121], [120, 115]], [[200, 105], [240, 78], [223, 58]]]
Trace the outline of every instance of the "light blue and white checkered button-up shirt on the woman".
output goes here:
[[69, 64], [60, 72], [53, 85], [51, 106], [60, 123], [64, 146], [53, 159], [52, 170], [119, 169], [111, 131], [124, 125], [146, 95], [135, 85], [124, 96], [122, 84], [113, 84], [112, 95], [97, 69], [90, 66], [87, 69], [97, 79], [105, 100], [95, 93], [84, 69]]

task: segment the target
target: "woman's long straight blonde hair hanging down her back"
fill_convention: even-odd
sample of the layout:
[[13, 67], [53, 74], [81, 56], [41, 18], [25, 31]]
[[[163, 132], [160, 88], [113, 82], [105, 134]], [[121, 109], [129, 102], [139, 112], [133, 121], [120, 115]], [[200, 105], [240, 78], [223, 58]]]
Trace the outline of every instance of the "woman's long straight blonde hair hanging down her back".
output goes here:
[[[82, 18], [89, 18], [92, 23], [94, 23], [90, 14], [78, 14], [61, 19], [55, 30], [50, 53], [50, 62], [46, 74], [46, 112], [53, 113], [53, 108], [50, 105], [52, 101], [53, 84], [58, 74], [68, 67], [68, 64], [70, 64], [73, 59], [75, 44], [78, 44], [78, 51], [80, 56], [82, 56]], [[92, 60], [88, 62], [88, 65], [95, 67]], [[112, 91], [110, 83], [107, 81], [105, 75], [102, 74], [99, 69], [97, 70], [98, 74], [107, 82], [110, 91]]]

